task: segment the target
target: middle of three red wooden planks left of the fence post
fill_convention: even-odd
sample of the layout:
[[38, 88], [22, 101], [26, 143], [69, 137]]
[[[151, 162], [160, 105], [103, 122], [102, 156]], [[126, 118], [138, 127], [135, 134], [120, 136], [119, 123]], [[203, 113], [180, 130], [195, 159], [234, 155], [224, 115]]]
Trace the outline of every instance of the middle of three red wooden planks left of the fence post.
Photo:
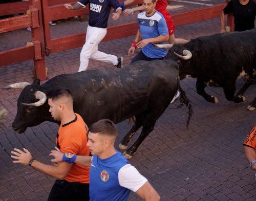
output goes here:
[[0, 33], [32, 26], [31, 14], [9, 17], [0, 20]]

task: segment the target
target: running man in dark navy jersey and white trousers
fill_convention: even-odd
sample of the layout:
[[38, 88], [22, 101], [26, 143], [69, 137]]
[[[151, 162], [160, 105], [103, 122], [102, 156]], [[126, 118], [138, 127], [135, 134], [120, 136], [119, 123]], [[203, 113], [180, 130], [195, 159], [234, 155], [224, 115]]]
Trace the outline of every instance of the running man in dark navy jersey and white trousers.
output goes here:
[[86, 32], [86, 43], [84, 43], [80, 53], [80, 66], [78, 72], [86, 71], [89, 58], [104, 62], [113, 63], [117, 68], [122, 68], [123, 58], [98, 51], [98, 44], [106, 35], [110, 9], [113, 7], [116, 13], [113, 14], [114, 20], [118, 19], [122, 9], [117, 0], [79, 0], [73, 6], [65, 4], [67, 9], [73, 10], [80, 7], [86, 8], [90, 5], [89, 25]]

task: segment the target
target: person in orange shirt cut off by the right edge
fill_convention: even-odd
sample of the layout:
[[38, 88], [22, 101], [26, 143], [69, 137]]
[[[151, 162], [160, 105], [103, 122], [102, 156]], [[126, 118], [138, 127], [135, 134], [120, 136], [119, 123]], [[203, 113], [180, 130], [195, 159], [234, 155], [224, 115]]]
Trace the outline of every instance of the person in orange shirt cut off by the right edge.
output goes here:
[[256, 124], [244, 141], [244, 154], [250, 162], [251, 169], [256, 170]]

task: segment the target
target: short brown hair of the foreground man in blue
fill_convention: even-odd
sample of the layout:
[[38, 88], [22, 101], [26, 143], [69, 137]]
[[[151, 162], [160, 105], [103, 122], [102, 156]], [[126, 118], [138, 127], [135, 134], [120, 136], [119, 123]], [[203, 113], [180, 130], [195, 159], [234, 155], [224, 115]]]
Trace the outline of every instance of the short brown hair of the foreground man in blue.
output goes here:
[[89, 131], [115, 137], [118, 135], [116, 125], [109, 119], [101, 119], [97, 121], [89, 127]]

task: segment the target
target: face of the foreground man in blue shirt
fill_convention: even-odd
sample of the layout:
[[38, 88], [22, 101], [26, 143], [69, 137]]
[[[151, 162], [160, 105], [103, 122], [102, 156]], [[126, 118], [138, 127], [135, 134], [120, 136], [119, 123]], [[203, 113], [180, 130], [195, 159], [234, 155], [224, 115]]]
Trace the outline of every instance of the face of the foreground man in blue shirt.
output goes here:
[[89, 147], [92, 155], [99, 155], [104, 152], [106, 145], [105, 138], [99, 133], [88, 133], [88, 142], [87, 146]]

